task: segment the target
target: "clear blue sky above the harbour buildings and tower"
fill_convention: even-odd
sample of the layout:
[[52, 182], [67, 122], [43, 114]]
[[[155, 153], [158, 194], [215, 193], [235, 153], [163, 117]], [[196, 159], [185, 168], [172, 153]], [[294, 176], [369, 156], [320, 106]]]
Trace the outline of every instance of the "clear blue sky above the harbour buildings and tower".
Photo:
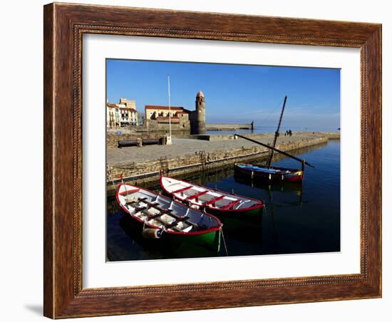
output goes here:
[[136, 100], [136, 108], [168, 105], [195, 109], [198, 90], [205, 93], [207, 123], [254, 120], [275, 128], [284, 95], [282, 129], [336, 130], [340, 114], [340, 70], [214, 63], [106, 61], [107, 98]]

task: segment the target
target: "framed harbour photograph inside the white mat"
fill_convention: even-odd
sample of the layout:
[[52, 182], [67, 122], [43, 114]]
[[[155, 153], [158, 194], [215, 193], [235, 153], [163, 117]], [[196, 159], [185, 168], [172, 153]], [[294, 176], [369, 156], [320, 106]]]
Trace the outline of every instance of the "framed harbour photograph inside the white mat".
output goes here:
[[105, 81], [106, 261], [341, 251], [339, 68], [106, 58]]

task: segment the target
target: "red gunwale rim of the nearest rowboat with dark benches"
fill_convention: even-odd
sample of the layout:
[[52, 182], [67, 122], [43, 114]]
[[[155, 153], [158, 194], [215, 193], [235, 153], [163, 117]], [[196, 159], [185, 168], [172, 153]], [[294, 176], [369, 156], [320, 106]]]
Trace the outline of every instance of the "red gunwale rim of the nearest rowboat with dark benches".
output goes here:
[[[141, 187], [136, 187], [136, 186], [133, 186], [133, 185], [128, 185], [128, 184], [126, 184], [126, 183], [120, 183], [120, 184], [118, 185], [117, 189], [115, 190], [115, 199], [116, 199], [117, 203], [120, 205], [121, 209], [123, 209], [124, 212], [126, 212], [127, 214], [130, 215], [130, 217], [132, 217], [133, 219], [136, 219], [138, 222], [140, 222], [140, 223], [142, 223], [142, 224], [146, 224], [146, 226], [148, 226], [148, 227], [150, 227], [150, 228], [161, 229], [161, 230], [163, 230], [163, 232], [165, 232], [165, 233], [167, 233], [167, 234], [191, 235], [191, 236], [193, 235], [193, 236], [194, 236], [194, 235], [207, 234], [207, 233], [209, 233], [209, 232], [217, 232], [217, 231], [219, 231], [220, 229], [222, 229], [222, 227], [223, 227], [223, 224], [222, 224], [222, 222], [220, 221], [219, 218], [215, 217], [215, 216], [212, 215], [212, 214], [207, 214], [207, 212], [203, 212], [203, 211], [200, 210], [200, 209], [193, 209], [193, 210], [196, 210], [197, 212], [200, 212], [200, 213], [202, 213], [202, 214], [205, 214], [205, 215], [207, 215], [207, 216], [212, 217], [213, 219], [215, 219], [215, 220], [217, 221], [218, 227], [213, 227], [213, 228], [210, 228], [210, 229], [204, 229], [204, 230], [200, 230], [200, 231], [196, 231], [196, 232], [172, 232], [172, 231], [167, 231], [167, 230], [165, 230], [165, 229], [162, 229], [162, 228], [160, 228], [160, 227], [158, 227], [158, 226], [155, 226], [155, 225], [153, 225], [153, 224], [148, 224], [147, 222], [144, 222], [143, 220], [141, 220], [141, 219], [138, 218], [137, 216], [134, 216], [133, 214], [130, 214], [129, 209], [127, 209], [126, 207], [123, 206], [123, 204], [121, 204], [120, 199], [119, 199], [119, 197], [118, 197], [118, 194], [120, 194], [120, 187], [121, 187], [122, 185], [128, 186], [128, 187], [133, 187], [133, 188], [138, 188], [139, 190], [145, 190], [145, 191], [147, 191], [147, 192], [150, 192], [150, 193], [159, 195], [160, 197], [162, 197], [162, 198], [164, 198], [164, 199], [168, 199], [168, 200], [170, 200], [170, 201], [172, 201], [172, 202], [175, 202], [175, 203], [177, 203], [177, 204], [180, 204], [182, 207], [187, 207], [187, 206], [186, 206], [185, 204], [182, 204], [181, 202], [177, 202], [177, 201], [175, 201], [175, 200], [173, 200], [173, 199], [170, 199], [170, 198], [168, 198], [168, 197], [165, 197], [165, 196], [163, 196], [162, 194], [158, 194], [158, 193], [153, 192], [153, 191], [151, 191], [151, 190], [149, 190], [149, 189], [145, 189], [145, 188], [141, 188]], [[190, 207], [188, 207], [188, 208], [190, 208]], [[170, 214], [169, 214], [169, 215], [170, 215]]]

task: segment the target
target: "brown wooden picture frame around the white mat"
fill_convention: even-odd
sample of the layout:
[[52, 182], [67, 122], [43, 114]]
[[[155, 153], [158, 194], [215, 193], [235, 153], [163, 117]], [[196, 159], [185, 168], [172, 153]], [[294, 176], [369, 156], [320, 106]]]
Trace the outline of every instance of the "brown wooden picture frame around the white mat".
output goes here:
[[[44, 315], [381, 297], [381, 25], [114, 6], [44, 6]], [[361, 49], [361, 273], [82, 288], [83, 33]], [[184, 301], [187, 298], [187, 301]]]

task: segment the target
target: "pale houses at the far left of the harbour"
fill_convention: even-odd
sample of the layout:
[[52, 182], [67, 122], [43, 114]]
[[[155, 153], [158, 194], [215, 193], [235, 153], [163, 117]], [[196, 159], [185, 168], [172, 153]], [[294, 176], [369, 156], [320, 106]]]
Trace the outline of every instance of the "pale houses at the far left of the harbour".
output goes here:
[[138, 125], [135, 100], [120, 98], [119, 103], [106, 103], [106, 126], [120, 128], [128, 125]]

